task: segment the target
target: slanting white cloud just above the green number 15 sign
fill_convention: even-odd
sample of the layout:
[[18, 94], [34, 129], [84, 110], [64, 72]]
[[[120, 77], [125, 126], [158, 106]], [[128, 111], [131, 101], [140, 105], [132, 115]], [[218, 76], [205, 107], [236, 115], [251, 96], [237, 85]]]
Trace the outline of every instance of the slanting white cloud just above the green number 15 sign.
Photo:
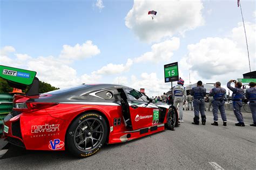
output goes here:
[[179, 38], [173, 37], [171, 40], [165, 40], [164, 42], [153, 44], [151, 51], [144, 53], [142, 56], [135, 58], [134, 62], [163, 62], [170, 61], [173, 56], [173, 51], [178, 50], [180, 45]]

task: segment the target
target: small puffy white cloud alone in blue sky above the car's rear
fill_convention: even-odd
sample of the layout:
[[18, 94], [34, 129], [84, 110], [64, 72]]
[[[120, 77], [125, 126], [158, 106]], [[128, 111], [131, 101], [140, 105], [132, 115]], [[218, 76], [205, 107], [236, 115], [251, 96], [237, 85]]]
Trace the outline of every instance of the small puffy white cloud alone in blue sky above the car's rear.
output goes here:
[[79, 60], [96, 56], [100, 53], [97, 45], [93, 45], [91, 40], [87, 40], [86, 43], [75, 46], [63, 45], [63, 50], [60, 53], [60, 58]]

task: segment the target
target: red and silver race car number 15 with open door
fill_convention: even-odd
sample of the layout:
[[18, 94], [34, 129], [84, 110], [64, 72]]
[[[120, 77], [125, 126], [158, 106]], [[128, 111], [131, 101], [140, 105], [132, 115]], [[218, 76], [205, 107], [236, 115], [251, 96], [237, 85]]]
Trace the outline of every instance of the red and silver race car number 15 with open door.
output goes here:
[[4, 138], [26, 149], [89, 157], [105, 143], [173, 130], [177, 123], [176, 108], [153, 103], [130, 87], [83, 84], [37, 96], [16, 94]]

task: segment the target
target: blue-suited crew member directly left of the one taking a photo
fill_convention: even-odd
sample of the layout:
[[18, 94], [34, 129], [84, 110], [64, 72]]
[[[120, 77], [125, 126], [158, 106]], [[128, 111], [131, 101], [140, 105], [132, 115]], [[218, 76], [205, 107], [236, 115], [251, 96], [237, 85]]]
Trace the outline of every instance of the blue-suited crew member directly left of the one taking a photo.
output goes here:
[[227, 126], [227, 117], [225, 113], [225, 108], [224, 108], [224, 98], [226, 94], [226, 89], [220, 86], [221, 83], [217, 81], [215, 83], [215, 88], [213, 88], [209, 96], [213, 97], [212, 101], [212, 113], [213, 113], [213, 123], [211, 125], [218, 126], [218, 110], [220, 111], [221, 119], [223, 120], [223, 126]]

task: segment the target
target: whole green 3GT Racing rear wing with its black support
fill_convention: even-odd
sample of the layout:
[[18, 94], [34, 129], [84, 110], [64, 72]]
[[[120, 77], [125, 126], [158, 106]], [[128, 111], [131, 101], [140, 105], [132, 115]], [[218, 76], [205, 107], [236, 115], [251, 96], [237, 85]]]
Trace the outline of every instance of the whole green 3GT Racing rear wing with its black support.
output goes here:
[[0, 65], [0, 77], [16, 89], [25, 90], [26, 87], [29, 87], [26, 92], [27, 96], [39, 94], [39, 79], [36, 77], [35, 71]]

